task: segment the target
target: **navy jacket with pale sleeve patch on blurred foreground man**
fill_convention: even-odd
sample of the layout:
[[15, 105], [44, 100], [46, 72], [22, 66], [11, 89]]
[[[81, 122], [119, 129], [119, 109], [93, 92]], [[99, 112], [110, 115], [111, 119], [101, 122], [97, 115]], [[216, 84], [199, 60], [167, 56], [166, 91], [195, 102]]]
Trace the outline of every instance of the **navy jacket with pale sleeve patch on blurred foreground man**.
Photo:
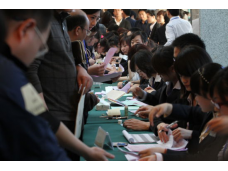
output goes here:
[[12, 55], [0, 55], [0, 160], [69, 160], [48, 122], [25, 108], [25, 69]]

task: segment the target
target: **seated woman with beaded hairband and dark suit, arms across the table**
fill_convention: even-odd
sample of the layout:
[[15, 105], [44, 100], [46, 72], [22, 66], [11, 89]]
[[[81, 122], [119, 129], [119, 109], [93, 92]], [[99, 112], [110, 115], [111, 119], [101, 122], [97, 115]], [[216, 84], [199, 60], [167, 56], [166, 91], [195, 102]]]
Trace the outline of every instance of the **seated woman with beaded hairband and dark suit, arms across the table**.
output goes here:
[[[209, 85], [213, 76], [221, 70], [221, 65], [210, 63], [199, 68], [191, 77], [191, 89], [196, 94], [196, 100], [200, 106], [190, 107], [179, 104], [161, 104], [155, 106], [149, 115], [150, 122], [153, 124], [153, 118], [161, 115], [201, 122], [199, 129], [200, 135], [192, 137], [189, 142], [196, 140], [196, 143], [190, 148], [197, 149], [194, 153], [173, 151], [164, 148], [151, 148], [140, 152], [141, 160], [161, 160], [161, 161], [215, 161], [218, 158], [218, 152], [225, 144], [227, 137], [215, 134], [208, 130], [208, 121], [212, 118], [220, 117], [214, 112], [214, 104], [209, 95]], [[167, 129], [165, 130], [167, 131]], [[146, 157], [147, 156], [147, 157]]]

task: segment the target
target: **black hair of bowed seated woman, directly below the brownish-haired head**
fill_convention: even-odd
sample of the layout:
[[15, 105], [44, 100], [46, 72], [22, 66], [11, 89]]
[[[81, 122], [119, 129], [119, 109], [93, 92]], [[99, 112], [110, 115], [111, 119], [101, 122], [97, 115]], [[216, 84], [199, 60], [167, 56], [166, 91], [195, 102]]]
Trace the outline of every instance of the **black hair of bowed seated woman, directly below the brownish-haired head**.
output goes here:
[[143, 71], [148, 78], [150, 78], [152, 74], [156, 73], [151, 65], [152, 56], [153, 55], [149, 50], [141, 49], [136, 52], [131, 59], [131, 62], [137, 65], [137, 67]]

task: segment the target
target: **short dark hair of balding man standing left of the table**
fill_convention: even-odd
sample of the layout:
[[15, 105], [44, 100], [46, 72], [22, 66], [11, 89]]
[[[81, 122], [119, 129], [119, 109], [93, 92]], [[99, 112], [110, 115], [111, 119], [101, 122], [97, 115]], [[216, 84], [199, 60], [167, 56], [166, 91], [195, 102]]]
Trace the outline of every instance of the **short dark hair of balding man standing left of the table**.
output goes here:
[[71, 15], [66, 18], [66, 21], [67, 21], [67, 29], [68, 31], [71, 31], [78, 26], [84, 28], [87, 20], [84, 15], [73, 15], [73, 16]]

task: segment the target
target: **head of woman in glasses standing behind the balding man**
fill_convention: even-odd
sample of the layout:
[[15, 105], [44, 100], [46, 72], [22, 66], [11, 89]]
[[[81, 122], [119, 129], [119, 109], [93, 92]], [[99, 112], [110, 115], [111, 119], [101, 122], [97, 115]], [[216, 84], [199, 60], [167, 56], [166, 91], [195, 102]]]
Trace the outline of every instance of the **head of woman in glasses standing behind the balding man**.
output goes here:
[[91, 30], [100, 21], [100, 9], [82, 9], [89, 19], [89, 30]]

